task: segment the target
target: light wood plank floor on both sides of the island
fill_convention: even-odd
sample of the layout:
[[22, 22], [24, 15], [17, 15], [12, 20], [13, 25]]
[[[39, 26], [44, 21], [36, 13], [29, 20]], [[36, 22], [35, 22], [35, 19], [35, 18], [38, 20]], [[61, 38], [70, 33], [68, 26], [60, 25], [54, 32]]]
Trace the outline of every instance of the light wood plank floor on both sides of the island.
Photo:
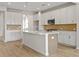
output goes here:
[[[0, 57], [44, 57], [30, 48], [23, 48], [20, 41], [0, 42]], [[52, 57], [79, 57], [79, 50], [59, 45]]]

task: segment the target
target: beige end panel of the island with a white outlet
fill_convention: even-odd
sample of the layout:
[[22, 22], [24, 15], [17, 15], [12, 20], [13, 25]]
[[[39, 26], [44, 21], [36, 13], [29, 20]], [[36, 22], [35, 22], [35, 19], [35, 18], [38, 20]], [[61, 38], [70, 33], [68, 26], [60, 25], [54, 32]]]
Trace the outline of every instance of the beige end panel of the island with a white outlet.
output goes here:
[[57, 51], [57, 39], [58, 39], [57, 34], [54, 34], [54, 35], [49, 34], [48, 35], [48, 52], [49, 52], [49, 56], [52, 56]]

